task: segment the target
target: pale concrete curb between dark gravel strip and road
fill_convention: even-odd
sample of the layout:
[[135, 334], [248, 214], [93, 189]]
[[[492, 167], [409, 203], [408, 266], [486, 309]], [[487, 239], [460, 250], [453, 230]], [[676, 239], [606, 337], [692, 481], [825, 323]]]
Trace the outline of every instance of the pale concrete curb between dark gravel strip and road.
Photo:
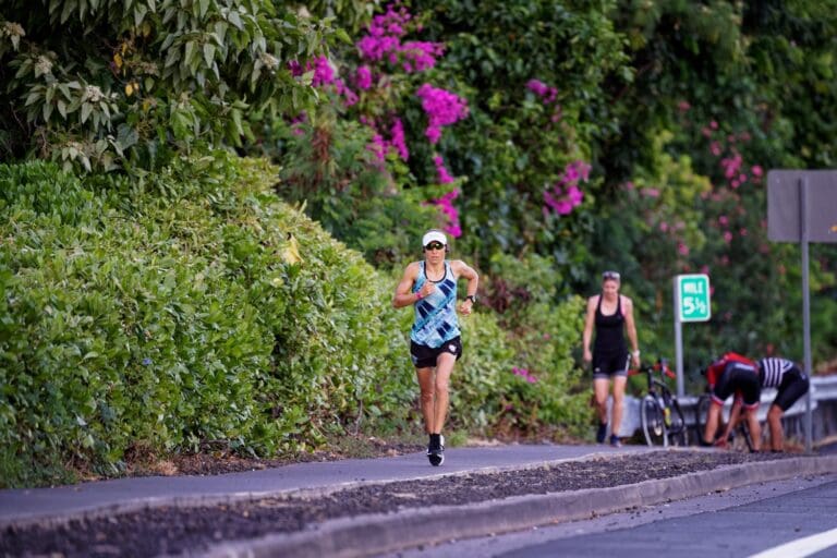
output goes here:
[[759, 461], [610, 488], [342, 518], [301, 533], [219, 544], [201, 555], [211, 558], [375, 556], [450, 539], [574, 521], [756, 483], [827, 473], [837, 473], [837, 456]]

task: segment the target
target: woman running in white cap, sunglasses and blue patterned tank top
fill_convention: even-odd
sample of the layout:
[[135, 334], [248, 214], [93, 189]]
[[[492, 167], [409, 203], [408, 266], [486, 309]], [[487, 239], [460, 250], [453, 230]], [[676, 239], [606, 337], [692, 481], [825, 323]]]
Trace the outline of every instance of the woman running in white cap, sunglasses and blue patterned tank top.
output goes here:
[[432, 229], [422, 238], [424, 262], [413, 262], [404, 269], [396, 287], [392, 306], [412, 305], [415, 322], [410, 331], [410, 356], [421, 389], [424, 428], [429, 435], [427, 457], [432, 465], [445, 461], [445, 437], [441, 429], [448, 413], [448, 383], [453, 364], [462, 355], [457, 319], [457, 281], [468, 280], [465, 298], [459, 312], [468, 316], [476, 302], [480, 278], [460, 259], [446, 259], [448, 239]]

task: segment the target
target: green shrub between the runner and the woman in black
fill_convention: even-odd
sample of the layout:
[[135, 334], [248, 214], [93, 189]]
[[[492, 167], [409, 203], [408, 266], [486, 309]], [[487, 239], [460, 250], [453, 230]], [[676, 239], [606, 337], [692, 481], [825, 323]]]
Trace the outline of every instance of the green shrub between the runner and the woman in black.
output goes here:
[[574, 353], [581, 344], [584, 301], [559, 299], [560, 275], [548, 258], [492, 258], [486, 303], [497, 312], [513, 355], [496, 386], [495, 432], [512, 436], [580, 434], [590, 420], [590, 390]]

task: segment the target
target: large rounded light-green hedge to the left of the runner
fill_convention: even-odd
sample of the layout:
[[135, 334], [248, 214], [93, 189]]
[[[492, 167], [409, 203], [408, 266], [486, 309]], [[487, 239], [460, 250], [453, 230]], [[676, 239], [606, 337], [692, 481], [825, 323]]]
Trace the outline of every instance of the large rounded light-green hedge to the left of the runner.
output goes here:
[[0, 167], [4, 483], [117, 473], [131, 448], [298, 450], [407, 412], [390, 281], [278, 203], [274, 173], [227, 161], [142, 186]]

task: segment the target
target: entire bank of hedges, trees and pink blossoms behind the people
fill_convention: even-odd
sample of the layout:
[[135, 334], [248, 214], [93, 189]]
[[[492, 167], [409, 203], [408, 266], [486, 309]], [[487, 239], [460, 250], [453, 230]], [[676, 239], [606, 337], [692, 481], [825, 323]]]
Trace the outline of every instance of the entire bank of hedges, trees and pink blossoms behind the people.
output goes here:
[[[766, 173], [837, 158], [837, 3], [0, 4], [0, 484], [138, 456], [295, 456], [420, 423], [398, 271], [481, 272], [450, 428], [586, 436], [583, 298], [672, 356], [802, 356]], [[812, 245], [817, 366], [837, 253]], [[829, 364], [830, 363], [830, 364]], [[350, 446], [350, 445], [348, 445]]]

